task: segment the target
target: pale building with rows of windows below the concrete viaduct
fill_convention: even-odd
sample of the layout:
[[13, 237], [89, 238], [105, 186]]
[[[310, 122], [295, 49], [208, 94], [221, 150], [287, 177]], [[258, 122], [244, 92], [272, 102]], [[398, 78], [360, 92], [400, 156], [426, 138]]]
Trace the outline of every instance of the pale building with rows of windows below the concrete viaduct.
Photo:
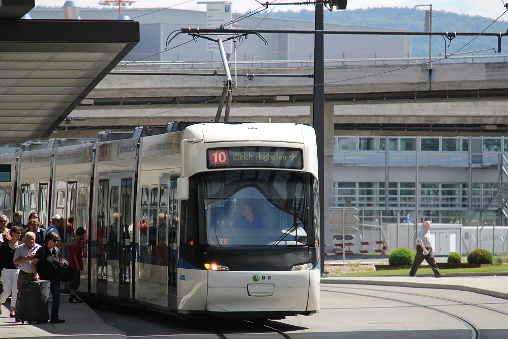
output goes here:
[[419, 222], [494, 219], [503, 153], [502, 136], [335, 136], [333, 206], [402, 222], [418, 201]]

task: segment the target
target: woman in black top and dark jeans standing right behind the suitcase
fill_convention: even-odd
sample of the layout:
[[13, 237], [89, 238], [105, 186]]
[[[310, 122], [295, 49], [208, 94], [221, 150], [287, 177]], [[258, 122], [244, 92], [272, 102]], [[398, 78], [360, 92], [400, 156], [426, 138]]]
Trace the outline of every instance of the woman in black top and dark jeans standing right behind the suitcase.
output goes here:
[[39, 248], [32, 260], [32, 271], [35, 279], [49, 280], [53, 302], [51, 305], [52, 324], [61, 324], [65, 320], [58, 319], [58, 308], [60, 307], [60, 281], [56, 278], [58, 266], [64, 266], [62, 261], [62, 253], [56, 246], [60, 240], [55, 232], [49, 232], [44, 238], [44, 246]]

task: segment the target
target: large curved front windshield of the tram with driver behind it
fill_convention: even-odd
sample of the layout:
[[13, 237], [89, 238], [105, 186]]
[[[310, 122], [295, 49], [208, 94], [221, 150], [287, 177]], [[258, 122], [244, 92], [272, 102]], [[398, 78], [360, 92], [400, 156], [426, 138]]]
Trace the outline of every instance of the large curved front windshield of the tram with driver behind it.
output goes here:
[[317, 181], [310, 173], [232, 170], [201, 180], [208, 245], [314, 245]]

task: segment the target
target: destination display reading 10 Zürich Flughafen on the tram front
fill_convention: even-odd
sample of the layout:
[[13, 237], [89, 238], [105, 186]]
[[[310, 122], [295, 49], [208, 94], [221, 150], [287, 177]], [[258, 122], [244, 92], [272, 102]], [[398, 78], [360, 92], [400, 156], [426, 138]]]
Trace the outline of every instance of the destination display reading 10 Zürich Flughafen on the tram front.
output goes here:
[[206, 152], [207, 168], [225, 167], [277, 167], [302, 170], [303, 151], [286, 147], [223, 147], [209, 148]]

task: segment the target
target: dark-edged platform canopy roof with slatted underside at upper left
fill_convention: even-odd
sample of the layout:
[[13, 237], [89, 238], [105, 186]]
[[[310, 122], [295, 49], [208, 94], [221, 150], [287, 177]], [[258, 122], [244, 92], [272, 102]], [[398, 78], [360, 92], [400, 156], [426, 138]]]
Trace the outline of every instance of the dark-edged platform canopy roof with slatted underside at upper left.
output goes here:
[[139, 42], [132, 20], [20, 19], [0, 1], [0, 146], [49, 137]]

